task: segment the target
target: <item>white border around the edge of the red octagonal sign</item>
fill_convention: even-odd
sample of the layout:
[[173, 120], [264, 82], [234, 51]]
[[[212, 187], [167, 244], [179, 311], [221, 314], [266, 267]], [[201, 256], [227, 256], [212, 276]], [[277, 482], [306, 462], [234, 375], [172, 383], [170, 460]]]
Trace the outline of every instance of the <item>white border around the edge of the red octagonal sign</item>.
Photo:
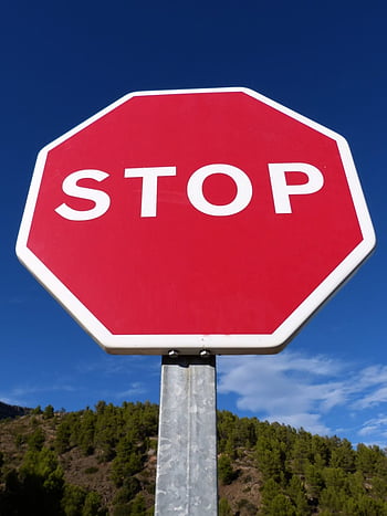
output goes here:
[[[27, 248], [27, 241], [35, 209], [38, 192], [43, 176], [48, 152], [62, 141], [93, 124], [121, 104], [136, 96], [176, 95], [191, 93], [240, 92], [273, 107], [302, 124], [334, 139], [343, 161], [353, 202], [363, 232], [363, 241], [351, 254], [312, 292], [312, 294], [271, 335], [113, 335], [77, 299], [54, 274]], [[46, 145], [36, 159], [30, 191], [17, 241], [17, 255], [36, 280], [59, 301], [60, 304], [107, 352], [117, 355], [164, 355], [176, 349], [181, 355], [192, 355], [209, 350], [217, 355], [274, 354], [281, 351], [307, 319], [335, 293], [335, 291], [357, 270], [375, 248], [376, 239], [368, 209], [355, 165], [346, 140], [331, 129], [244, 87], [171, 89], [135, 92], [107, 106], [60, 138]]]

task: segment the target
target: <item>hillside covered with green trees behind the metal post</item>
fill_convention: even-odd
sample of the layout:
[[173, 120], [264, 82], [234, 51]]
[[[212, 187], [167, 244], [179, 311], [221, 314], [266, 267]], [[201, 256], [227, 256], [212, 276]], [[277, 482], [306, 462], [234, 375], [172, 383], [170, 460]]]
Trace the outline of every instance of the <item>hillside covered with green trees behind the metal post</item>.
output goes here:
[[[0, 421], [0, 516], [151, 515], [157, 419], [101, 401]], [[220, 516], [387, 515], [377, 446], [221, 411], [218, 451]]]

